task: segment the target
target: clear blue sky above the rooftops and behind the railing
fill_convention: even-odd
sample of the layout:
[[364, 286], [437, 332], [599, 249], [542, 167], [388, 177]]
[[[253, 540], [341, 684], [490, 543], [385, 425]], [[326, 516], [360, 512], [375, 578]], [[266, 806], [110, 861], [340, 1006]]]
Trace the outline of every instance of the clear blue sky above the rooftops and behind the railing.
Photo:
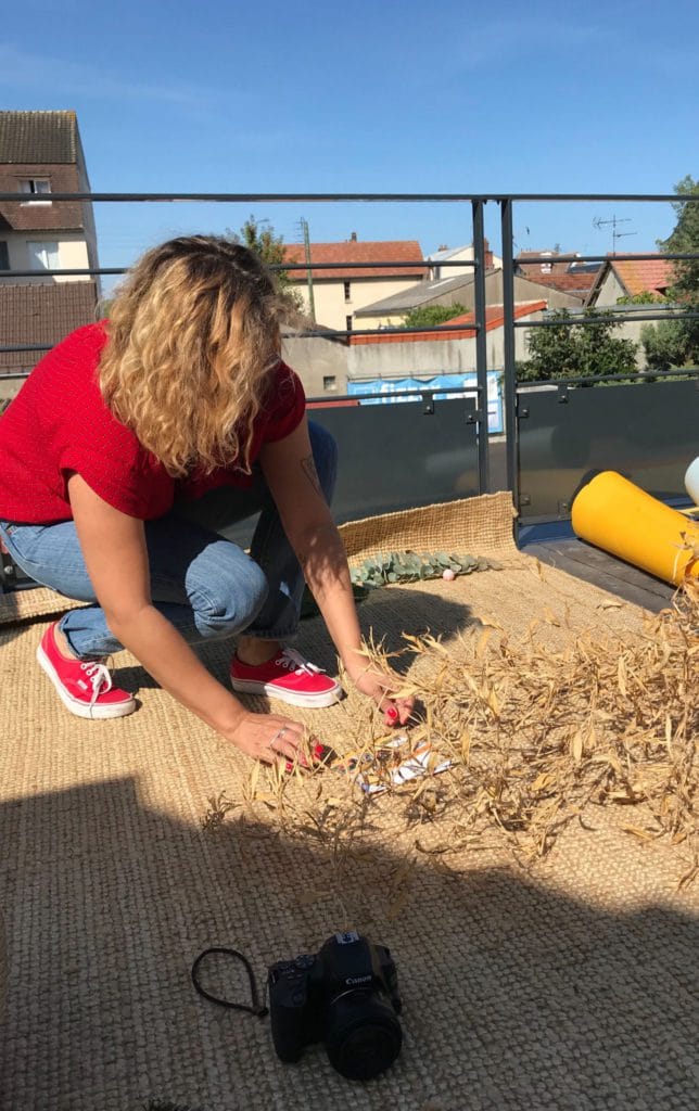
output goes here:
[[[699, 4], [678, 0], [32, 0], [0, 102], [73, 108], [94, 191], [671, 192], [699, 178]], [[459, 204], [98, 206], [103, 266], [253, 212], [289, 242], [470, 242]], [[515, 209], [520, 249], [653, 250], [669, 204]], [[498, 248], [495, 206], [487, 231]]]

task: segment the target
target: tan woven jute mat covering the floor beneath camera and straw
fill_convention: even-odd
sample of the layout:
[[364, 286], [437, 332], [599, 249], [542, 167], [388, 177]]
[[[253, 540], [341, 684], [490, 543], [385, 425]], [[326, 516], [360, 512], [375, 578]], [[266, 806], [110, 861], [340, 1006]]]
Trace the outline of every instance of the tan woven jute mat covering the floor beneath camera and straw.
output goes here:
[[[635, 607], [518, 556], [507, 529], [487, 548], [463, 520], [439, 544], [427, 528], [421, 511], [405, 547], [499, 552], [503, 570], [376, 591], [359, 613], [387, 650], [427, 631], [448, 644], [479, 621], [519, 635], [547, 610], [561, 642], [582, 628], [642, 628]], [[402, 546], [395, 521], [376, 530], [389, 550]], [[138, 691], [138, 712], [70, 717], [33, 661], [44, 628], [34, 617], [0, 629], [2, 1111], [139, 1111], [151, 1100], [202, 1111], [697, 1107], [697, 894], [677, 890], [665, 843], [626, 837], [593, 808], [530, 870], [477, 844], [449, 870], [427, 853], [407, 867], [416, 839], [438, 835], [429, 821], [406, 828], [390, 797], [359, 808], [352, 828], [333, 825], [331, 804], [303, 824], [272, 800], [249, 802], [250, 763], [127, 653], [116, 678]], [[298, 647], [334, 670], [319, 619]], [[222, 681], [230, 651], [202, 652]], [[340, 751], [376, 721], [352, 691], [290, 714]], [[232, 809], [214, 832], [221, 792]], [[390, 945], [405, 1000], [403, 1051], [377, 1081], [343, 1080], [321, 1047], [282, 1065], [269, 1021], [192, 989], [208, 945], [243, 951], [263, 979], [268, 963], [348, 927]], [[223, 959], [204, 982], [247, 995]]]

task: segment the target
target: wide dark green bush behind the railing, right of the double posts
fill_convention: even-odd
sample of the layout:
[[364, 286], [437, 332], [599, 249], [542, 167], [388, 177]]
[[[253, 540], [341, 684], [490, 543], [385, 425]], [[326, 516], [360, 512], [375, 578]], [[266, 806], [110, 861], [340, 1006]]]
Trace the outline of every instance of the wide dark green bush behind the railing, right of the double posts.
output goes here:
[[[585, 316], [589, 320], [597, 313], [587, 309]], [[551, 317], [557, 323], [529, 332], [529, 359], [518, 363], [519, 381], [636, 373], [637, 344], [611, 334], [620, 324], [602, 321], [576, 324], [566, 309], [557, 309]]]

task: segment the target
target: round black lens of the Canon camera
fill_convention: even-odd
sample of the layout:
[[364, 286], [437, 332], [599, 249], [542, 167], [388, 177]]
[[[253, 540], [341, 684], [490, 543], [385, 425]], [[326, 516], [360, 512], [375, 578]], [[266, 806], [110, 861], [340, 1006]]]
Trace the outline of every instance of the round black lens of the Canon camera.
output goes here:
[[388, 1069], [402, 1044], [396, 1012], [378, 995], [352, 993], [330, 1004], [326, 1048], [349, 1080], [371, 1080]]

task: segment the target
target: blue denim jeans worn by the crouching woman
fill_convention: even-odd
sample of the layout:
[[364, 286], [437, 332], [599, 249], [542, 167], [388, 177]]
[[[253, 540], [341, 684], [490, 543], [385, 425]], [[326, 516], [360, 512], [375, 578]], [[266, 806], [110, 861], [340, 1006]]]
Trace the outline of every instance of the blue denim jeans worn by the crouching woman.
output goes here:
[[[309, 423], [318, 478], [328, 503], [337, 473], [334, 440]], [[260, 511], [250, 556], [217, 529]], [[21, 524], [2, 521], [12, 559], [36, 582], [81, 602], [97, 602], [72, 521]], [[246, 635], [291, 640], [298, 623], [303, 574], [259, 468], [250, 489], [224, 487], [181, 501], [146, 521], [152, 603], [190, 644]], [[80, 659], [109, 655], [123, 645], [94, 604], [70, 610], [60, 628]]]

